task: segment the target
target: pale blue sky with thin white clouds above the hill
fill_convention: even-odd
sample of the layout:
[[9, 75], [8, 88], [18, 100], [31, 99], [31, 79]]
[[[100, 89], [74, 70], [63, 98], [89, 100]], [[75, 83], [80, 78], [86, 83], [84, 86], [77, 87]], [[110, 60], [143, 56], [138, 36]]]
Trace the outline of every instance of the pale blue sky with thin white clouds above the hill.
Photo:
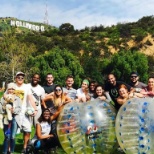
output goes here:
[[41, 23], [46, 17], [52, 26], [70, 23], [75, 29], [136, 22], [154, 14], [154, 0], [1, 0], [0, 6], [0, 17]]

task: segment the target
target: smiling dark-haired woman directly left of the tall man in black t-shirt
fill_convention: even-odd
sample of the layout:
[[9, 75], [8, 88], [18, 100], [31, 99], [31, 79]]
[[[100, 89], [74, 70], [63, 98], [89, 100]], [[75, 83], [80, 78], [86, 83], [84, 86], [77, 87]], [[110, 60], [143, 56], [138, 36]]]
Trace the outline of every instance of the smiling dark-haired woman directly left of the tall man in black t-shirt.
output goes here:
[[97, 85], [95, 88], [94, 98], [98, 98], [102, 101], [105, 101], [107, 98], [104, 93], [104, 89], [101, 85]]

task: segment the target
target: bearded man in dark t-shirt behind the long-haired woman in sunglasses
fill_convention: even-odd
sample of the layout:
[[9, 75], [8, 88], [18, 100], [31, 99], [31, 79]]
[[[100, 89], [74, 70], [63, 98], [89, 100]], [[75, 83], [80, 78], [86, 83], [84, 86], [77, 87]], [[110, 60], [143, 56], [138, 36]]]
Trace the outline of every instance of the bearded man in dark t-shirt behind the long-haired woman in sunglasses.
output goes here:
[[[54, 88], [56, 85], [53, 83], [53, 81], [54, 81], [53, 75], [51, 73], [48, 73], [46, 75], [46, 84], [43, 86], [46, 95], [54, 91]], [[50, 107], [53, 107], [54, 105], [53, 105], [53, 102], [46, 101], [46, 106], [50, 108]]]

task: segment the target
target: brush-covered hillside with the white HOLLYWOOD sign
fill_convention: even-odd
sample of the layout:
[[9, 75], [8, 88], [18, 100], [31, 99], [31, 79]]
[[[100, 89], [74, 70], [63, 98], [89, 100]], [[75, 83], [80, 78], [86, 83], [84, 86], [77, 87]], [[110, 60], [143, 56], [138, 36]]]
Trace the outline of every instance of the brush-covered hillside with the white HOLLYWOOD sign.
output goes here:
[[[11, 22], [13, 26], [11, 26]], [[154, 16], [143, 17], [132, 23], [118, 23], [110, 27], [104, 27], [103, 25], [85, 27], [81, 30], [75, 30], [74, 26], [70, 23], [64, 23], [57, 28], [43, 23], [23, 21], [12, 17], [0, 18], [2, 44], [5, 42], [3, 36], [9, 32], [11, 32], [12, 38], [10, 47], [17, 46], [20, 53], [20, 48], [22, 48], [20, 45], [23, 44], [22, 46], [25, 47], [23, 51], [26, 51], [29, 57], [36, 57], [36, 59], [38, 57], [45, 58], [52, 50], [67, 50], [76, 57], [84, 70], [80, 78], [89, 77], [90, 79], [102, 81], [102, 72], [103, 76], [105, 76], [109, 71], [114, 70], [114, 67], [109, 67], [109, 64], [112, 64], [115, 53], [119, 53], [120, 55], [122, 51], [130, 54], [128, 59], [131, 57], [131, 54], [135, 53], [143, 53], [145, 55], [147, 61], [145, 60], [143, 62], [148, 65], [145, 70], [148, 72], [148, 75], [145, 75], [143, 80], [146, 80], [149, 75], [154, 74]], [[8, 37], [8, 39], [11, 38]], [[3, 63], [7, 61], [5, 54], [9, 50], [10, 49], [0, 44], [0, 52], [3, 53], [0, 55], [0, 64], [2, 66]], [[14, 49], [14, 51], [16, 50]], [[22, 52], [20, 54], [24, 55], [25, 53]], [[28, 67], [30, 67], [29, 57], [26, 61], [23, 58], [23, 61], [25, 61], [24, 69], [26, 71], [28, 71]], [[145, 65], [144, 63], [143, 65]], [[57, 64], [58, 62], [56, 61], [56, 65]], [[31, 65], [35, 64], [31, 63]], [[114, 66], [115, 64], [112, 65]], [[41, 66], [41, 70], [40, 68], [35, 69], [38, 71], [42, 71], [42, 69], [49, 71], [52, 69], [52, 66], [50, 68], [48, 67], [49, 66]], [[123, 72], [119, 72], [117, 76], [119, 78], [123, 76], [127, 77], [132, 69], [139, 71], [140, 74], [143, 73], [142, 68], [137, 68], [133, 62], [129, 64], [129, 67], [127, 66], [127, 68], [125, 68], [126, 70], [124, 69]], [[47, 70], [43, 70], [43, 76]], [[65, 70], [65, 72], [67, 71], [68, 70]], [[58, 76], [56, 72], [55, 76]]]

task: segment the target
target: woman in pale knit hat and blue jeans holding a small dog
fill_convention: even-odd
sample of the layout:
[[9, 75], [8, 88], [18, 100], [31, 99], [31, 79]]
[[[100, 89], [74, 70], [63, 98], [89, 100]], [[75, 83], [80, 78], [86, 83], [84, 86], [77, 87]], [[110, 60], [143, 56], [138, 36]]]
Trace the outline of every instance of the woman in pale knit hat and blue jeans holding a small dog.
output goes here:
[[12, 120], [7, 121], [5, 119], [4, 121], [4, 141], [3, 141], [3, 154], [7, 154], [8, 149], [10, 149], [10, 153], [14, 153], [15, 149], [15, 135], [18, 129], [18, 126], [20, 126], [20, 116], [19, 113], [21, 111], [21, 100], [19, 97], [17, 97], [15, 94], [15, 84], [9, 83], [7, 86], [7, 90], [5, 92], [5, 99], [2, 97], [1, 108], [4, 111], [4, 116], [6, 116], [6, 110], [5, 106], [7, 104], [7, 96], [9, 95], [9, 98], [11, 97], [12, 100], [12, 108], [10, 108], [12, 113]]

